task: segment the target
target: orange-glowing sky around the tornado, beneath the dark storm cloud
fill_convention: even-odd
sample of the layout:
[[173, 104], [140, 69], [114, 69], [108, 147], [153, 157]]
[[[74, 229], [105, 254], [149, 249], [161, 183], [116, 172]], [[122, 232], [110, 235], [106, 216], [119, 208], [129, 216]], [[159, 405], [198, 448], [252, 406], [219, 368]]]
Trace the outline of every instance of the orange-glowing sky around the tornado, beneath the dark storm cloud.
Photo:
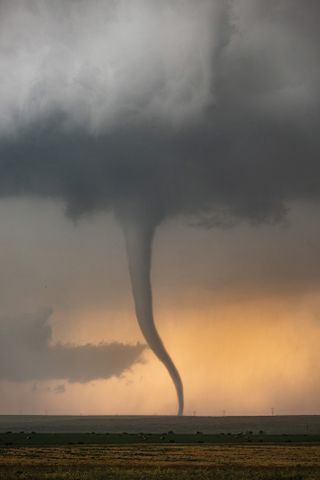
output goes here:
[[[111, 216], [73, 225], [60, 205], [16, 200], [0, 205], [0, 220], [3, 316], [50, 306], [53, 344], [143, 342]], [[302, 207], [281, 226], [161, 227], [155, 317], [183, 378], [186, 414], [320, 412], [318, 233], [315, 213]], [[3, 380], [0, 390], [1, 413], [176, 411], [168, 374], [149, 350], [119, 378]]]

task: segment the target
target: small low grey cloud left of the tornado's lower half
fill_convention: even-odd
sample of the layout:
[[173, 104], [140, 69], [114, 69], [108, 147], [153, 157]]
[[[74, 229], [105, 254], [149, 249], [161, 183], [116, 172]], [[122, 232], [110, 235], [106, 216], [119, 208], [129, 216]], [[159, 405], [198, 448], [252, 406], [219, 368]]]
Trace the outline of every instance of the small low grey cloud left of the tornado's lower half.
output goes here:
[[[120, 376], [140, 361], [144, 346], [51, 345], [50, 311], [1, 322], [0, 379], [16, 382], [65, 379], [86, 383]], [[58, 385], [55, 393], [62, 393]]]

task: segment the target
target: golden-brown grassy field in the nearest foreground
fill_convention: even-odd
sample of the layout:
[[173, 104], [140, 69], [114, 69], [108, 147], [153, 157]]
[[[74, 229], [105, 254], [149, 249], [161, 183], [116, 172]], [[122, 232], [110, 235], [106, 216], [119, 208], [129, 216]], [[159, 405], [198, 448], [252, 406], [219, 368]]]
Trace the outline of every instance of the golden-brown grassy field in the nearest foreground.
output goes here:
[[0, 479], [320, 479], [320, 445], [6, 447]]

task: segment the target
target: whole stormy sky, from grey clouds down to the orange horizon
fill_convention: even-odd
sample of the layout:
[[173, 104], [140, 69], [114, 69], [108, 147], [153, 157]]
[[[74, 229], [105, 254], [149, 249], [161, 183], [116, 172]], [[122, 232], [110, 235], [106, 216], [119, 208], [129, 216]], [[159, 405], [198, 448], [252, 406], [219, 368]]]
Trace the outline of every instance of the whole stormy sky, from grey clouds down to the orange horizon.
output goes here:
[[320, 413], [319, 20], [0, 1], [0, 413]]

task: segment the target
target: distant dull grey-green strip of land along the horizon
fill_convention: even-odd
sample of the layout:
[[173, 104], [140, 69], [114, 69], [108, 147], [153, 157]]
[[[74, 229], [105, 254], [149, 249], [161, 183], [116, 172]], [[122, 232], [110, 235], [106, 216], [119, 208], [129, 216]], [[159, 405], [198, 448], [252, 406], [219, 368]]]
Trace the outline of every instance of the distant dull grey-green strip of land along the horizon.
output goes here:
[[0, 415], [0, 433], [162, 433], [201, 431], [206, 434], [264, 431], [269, 435], [320, 435], [320, 415], [275, 415], [246, 417], [176, 417], [138, 415]]

